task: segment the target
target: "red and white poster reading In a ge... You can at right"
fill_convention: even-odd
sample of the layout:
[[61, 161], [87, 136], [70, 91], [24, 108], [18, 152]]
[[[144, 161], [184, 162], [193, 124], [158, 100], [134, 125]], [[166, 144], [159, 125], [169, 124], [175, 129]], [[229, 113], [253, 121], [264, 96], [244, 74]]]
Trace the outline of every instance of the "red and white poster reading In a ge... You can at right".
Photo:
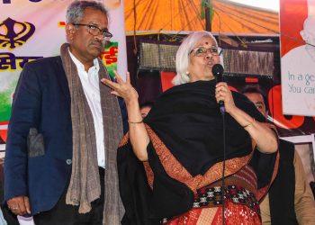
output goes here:
[[286, 115], [315, 115], [315, 1], [281, 0], [281, 82]]

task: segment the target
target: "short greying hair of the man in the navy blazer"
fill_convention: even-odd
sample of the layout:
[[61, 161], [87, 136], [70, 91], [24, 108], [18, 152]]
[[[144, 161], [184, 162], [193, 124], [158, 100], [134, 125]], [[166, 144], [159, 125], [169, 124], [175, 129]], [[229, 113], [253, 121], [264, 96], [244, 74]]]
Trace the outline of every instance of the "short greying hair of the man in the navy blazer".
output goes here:
[[80, 23], [86, 8], [99, 10], [108, 16], [108, 10], [100, 2], [95, 1], [74, 1], [67, 7], [66, 22]]

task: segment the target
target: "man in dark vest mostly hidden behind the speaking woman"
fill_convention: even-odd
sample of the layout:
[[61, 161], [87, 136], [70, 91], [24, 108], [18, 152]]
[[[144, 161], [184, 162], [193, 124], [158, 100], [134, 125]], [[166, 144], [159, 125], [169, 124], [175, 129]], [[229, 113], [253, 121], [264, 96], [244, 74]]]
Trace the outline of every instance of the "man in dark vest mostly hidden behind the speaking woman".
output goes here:
[[[256, 86], [247, 86], [242, 93], [267, 117], [266, 97]], [[260, 203], [263, 224], [315, 224], [314, 199], [302, 160], [289, 141], [280, 139], [279, 151], [278, 174]]]

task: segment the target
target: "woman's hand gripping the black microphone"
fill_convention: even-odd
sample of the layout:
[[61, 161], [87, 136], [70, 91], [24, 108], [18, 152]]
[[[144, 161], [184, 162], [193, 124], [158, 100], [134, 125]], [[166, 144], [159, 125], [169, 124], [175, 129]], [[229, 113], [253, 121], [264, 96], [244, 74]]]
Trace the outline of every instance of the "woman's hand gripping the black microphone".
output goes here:
[[220, 82], [215, 86], [215, 98], [217, 103], [224, 102], [226, 112], [231, 112], [236, 107], [229, 86], [225, 82]]

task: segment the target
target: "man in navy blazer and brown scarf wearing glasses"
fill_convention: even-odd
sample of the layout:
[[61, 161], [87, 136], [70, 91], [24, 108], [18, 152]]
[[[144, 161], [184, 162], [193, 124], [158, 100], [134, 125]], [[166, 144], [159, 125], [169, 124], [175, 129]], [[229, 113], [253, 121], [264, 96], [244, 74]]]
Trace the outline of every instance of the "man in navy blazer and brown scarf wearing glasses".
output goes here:
[[116, 148], [126, 112], [100, 82], [110, 79], [98, 58], [107, 26], [103, 4], [70, 4], [60, 56], [25, 65], [16, 87], [4, 200], [36, 225], [120, 223]]

